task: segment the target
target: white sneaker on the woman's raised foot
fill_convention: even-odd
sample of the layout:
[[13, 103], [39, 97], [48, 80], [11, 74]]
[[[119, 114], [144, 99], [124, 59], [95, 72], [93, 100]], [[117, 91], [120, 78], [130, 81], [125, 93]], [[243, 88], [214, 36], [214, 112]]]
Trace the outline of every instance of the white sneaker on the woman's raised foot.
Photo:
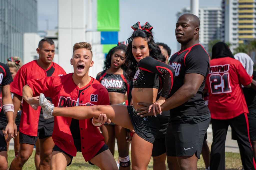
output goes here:
[[45, 119], [49, 119], [51, 117], [54, 117], [52, 115], [54, 104], [51, 104], [46, 98], [45, 95], [40, 93], [39, 95], [39, 105], [41, 106], [43, 110], [43, 116]]

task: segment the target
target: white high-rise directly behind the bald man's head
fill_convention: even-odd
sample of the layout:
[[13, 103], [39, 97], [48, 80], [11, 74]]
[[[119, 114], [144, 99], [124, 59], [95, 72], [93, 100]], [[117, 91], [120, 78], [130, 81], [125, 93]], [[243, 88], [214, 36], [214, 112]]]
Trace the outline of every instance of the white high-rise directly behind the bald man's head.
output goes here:
[[[176, 16], [178, 18], [186, 13], [190, 13], [189, 7], [183, 8]], [[208, 51], [208, 43], [221, 38], [221, 7], [199, 7], [198, 17], [200, 19], [199, 43]]]

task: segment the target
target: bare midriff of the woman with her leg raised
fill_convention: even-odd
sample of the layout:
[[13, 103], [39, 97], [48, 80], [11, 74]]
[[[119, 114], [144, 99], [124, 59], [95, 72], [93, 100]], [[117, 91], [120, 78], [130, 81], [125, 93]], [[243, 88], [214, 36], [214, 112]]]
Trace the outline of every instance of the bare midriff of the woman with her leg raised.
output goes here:
[[145, 106], [137, 105], [139, 102], [143, 103], [153, 103], [156, 101], [157, 88], [132, 88], [132, 99], [134, 109], [142, 108]]

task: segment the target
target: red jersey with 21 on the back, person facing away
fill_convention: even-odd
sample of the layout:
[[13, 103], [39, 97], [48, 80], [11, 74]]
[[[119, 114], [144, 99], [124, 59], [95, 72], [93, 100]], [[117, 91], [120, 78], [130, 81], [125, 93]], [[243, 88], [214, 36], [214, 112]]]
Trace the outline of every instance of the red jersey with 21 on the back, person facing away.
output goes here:
[[251, 76], [238, 60], [231, 57], [212, 59], [205, 85], [211, 118], [232, 119], [248, 113], [241, 84], [246, 86], [251, 82]]

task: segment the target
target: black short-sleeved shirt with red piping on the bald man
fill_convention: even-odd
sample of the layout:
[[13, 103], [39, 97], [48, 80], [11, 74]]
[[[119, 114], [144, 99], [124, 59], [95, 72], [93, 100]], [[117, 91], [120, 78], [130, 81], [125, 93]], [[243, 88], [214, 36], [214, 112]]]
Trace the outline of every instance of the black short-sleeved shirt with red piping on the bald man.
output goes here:
[[[172, 96], [183, 84], [185, 74], [197, 73], [206, 77], [210, 68], [210, 58], [204, 47], [200, 44], [191, 46], [184, 51], [175, 53], [169, 61], [169, 65], [175, 70], [175, 79], [173, 88], [169, 95]], [[171, 109], [170, 116], [182, 115], [204, 115], [210, 111], [205, 106], [203, 98], [203, 89], [205, 87], [205, 79], [199, 87], [197, 93], [184, 104]]]

